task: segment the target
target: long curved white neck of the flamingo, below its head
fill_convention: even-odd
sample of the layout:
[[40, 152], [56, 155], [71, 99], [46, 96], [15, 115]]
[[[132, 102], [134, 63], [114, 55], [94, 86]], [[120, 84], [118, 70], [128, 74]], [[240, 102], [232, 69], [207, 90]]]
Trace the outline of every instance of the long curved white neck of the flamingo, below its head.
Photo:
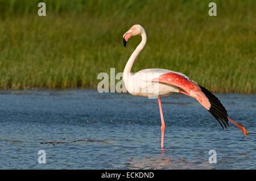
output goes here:
[[[129, 75], [131, 73], [131, 68], [133, 67], [133, 63], [136, 60], [139, 52], [144, 48], [146, 41], [147, 41], [147, 35], [146, 32], [143, 32], [141, 34], [142, 40], [141, 43], [137, 46], [137, 48], [134, 50], [134, 52], [131, 54], [129, 60], [127, 61], [127, 64], [125, 65], [125, 69], [123, 70], [123, 82], [125, 82], [125, 85], [128, 85], [129, 81]], [[127, 87], [126, 87], [127, 88]]]

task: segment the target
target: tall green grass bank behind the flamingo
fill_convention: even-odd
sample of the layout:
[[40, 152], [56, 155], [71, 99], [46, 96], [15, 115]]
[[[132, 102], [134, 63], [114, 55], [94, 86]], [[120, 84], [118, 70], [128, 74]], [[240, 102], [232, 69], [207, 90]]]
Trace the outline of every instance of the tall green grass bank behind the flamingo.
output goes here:
[[[47, 16], [37, 15], [46, 2]], [[181, 71], [213, 92], [256, 93], [256, 1], [0, 0], [0, 88], [97, 87], [123, 68], [141, 40], [123, 48], [133, 24], [147, 44], [133, 71]]]

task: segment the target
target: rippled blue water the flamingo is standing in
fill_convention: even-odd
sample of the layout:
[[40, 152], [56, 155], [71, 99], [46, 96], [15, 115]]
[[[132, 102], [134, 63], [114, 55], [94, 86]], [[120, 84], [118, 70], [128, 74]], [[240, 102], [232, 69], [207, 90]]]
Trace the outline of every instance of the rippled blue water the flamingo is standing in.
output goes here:
[[[155, 99], [96, 90], [1, 91], [0, 169], [256, 169], [255, 95], [217, 94], [232, 119], [223, 131], [185, 95], [163, 98], [160, 149]], [[38, 151], [46, 151], [46, 164]], [[209, 164], [209, 150], [217, 163]]]

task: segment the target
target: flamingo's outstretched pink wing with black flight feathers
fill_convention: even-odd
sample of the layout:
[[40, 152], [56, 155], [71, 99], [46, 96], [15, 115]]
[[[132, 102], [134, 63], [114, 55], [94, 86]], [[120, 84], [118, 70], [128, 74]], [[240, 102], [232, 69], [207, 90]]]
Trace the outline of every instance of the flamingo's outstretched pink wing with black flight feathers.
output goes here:
[[218, 123], [220, 123], [223, 129], [229, 126], [228, 113], [220, 100], [210, 91], [198, 85], [187, 76], [170, 72], [160, 75], [153, 81], [179, 87], [180, 93], [197, 99], [197, 101], [213, 115]]

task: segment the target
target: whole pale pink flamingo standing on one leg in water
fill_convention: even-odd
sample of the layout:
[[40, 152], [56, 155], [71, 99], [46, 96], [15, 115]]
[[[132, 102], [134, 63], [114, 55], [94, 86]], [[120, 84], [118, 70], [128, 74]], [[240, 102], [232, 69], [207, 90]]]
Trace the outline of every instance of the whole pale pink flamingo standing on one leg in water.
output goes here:
[[123, 70], [123, 82], [126, 90], [135, 96], [146, 96], [148, 98], [157, 98], [161, 119], [161, 148], [164, 148], [164, 116], [161, 104], [161, 98], [174, 92], [184, 94], [195, 98], [213, 117], [220, 123], [222, 129], [229, 127], [229, 121], [241, 129], [247, 137], [248, 132], [243, 125], [228, 117], [228, 113], [220, 100], [210, 91], [200, 86], [198, 83], [187, 77], [183, 73], [166, 69], [144, 69], [135, 74], [131, 73], [136, 57], [144, 48], [147, 36], [144, 28], [135, 24], [123, 35], [123, 45], [126, 47], [127, 41], [131, 36], [141, 35], [141, 43], [131, 54], [125, 69]]

